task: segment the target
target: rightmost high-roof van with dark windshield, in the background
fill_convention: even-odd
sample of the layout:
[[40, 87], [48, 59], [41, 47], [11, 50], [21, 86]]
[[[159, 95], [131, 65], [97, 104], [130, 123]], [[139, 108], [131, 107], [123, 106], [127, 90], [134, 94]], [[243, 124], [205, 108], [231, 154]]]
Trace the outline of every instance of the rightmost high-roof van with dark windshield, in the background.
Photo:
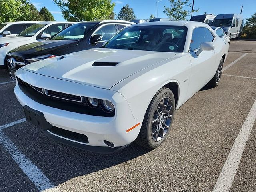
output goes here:
[[244, 25], [244, 18], [240, 14], [220, 14], [212, 22], [213, 27], [221, 27], [226, 35], [232, 38], [239, 38]]

